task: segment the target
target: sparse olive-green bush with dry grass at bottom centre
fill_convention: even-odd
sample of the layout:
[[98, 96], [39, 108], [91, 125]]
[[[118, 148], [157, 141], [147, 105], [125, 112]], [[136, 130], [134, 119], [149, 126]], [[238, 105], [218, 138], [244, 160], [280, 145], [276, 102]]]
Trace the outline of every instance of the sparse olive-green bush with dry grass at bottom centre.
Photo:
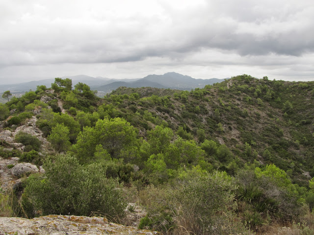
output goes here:
[[234, 189], [231, 178], [222, 172], [183, 181], [175, 188], [150, 188], [148, 196], [140, 195], [148, 204], [141, 226], [171, 234], [246, 234], [235, 220]]

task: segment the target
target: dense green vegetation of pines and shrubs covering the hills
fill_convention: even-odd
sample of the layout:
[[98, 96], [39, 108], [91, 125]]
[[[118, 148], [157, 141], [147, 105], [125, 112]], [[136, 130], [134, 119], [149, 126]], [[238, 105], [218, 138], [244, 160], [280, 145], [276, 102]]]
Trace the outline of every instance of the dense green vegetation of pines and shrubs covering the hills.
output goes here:
[[99, 98], [56, 78], [52, 89], [0, 104], [7, 129], [39, 110], [36, 125], [54, 150], [39, 155], [38, 139], [25, 134], [16, 136], [22, 155], [0, 149], [46, 169], [15, 191], [16, 215], [98, 211], [117, 221], [135, 188], [148, 210], [140, 227], [165, 234], [313, 226], [305, 219], [314, 208], [314, 82], [244, 74], [190, 92], [122, 87]]

